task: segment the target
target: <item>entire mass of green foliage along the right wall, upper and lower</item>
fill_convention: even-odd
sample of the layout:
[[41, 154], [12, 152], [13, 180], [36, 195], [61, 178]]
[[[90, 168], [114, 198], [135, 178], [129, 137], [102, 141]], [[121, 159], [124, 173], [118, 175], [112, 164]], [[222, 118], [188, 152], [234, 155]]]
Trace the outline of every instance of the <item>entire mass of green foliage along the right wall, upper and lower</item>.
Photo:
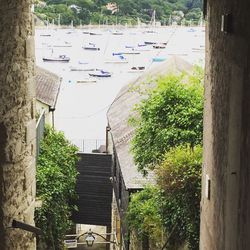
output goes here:
[[132, 195], [128, 226], [154, 243], [164, 232], [171, 250], [199, 249], [202, 79], [200, 68], [159, 78], [130, 119], [134, 160], [140, 171], [154, 170], [157, 183]]

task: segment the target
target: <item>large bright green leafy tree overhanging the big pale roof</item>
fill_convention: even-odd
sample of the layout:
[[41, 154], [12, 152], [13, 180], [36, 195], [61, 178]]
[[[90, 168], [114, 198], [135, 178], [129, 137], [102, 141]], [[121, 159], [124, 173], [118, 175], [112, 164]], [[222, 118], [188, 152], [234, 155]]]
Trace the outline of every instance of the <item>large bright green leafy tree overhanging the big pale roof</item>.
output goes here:
[[172, 147], [202, 142], [202, 70], [192, 75], [158, 78], [156, 87], [136, 107], [130, 118], [135, 127], [131, 150], [141, 171], [154, 168]]

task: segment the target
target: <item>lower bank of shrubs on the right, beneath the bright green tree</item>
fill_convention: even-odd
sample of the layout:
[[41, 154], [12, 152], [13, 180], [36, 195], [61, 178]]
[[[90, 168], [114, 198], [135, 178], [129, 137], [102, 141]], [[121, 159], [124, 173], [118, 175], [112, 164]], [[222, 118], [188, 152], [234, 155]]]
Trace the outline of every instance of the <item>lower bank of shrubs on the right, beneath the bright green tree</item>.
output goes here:
[[[199, 249], [202, 149], [187, 145], [171, 149], [156, 168], [157, 185], [132, 194], [126, 219], [138, 238], [148, 236], [157, 249], [165, 232], [169, 249], [183, 243]], [[159, 245], [161, 243], [161, 245]]]

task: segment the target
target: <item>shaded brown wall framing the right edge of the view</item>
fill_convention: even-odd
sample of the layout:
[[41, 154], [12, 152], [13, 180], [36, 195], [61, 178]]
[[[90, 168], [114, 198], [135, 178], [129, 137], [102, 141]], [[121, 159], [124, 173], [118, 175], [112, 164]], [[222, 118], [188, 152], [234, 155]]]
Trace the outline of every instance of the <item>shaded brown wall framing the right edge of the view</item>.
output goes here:
[[[246, 250], [250, 247], [250, 2], [207, 2], [200, 249]], [[222, 31], [225, 14], [232, 18], [229, 29]]]

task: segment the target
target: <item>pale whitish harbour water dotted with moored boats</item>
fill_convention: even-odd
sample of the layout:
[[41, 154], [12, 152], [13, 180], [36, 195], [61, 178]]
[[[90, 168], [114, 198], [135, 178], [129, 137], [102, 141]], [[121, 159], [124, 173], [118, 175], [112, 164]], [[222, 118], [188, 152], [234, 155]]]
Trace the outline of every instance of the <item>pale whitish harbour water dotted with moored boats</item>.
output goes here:
[[[89, 35], [91, 31], [102, 35]], [[155, 33], [145, 33], [145, 29], [122, 30], [123, 35], [113, 35], [110, 30], [84, 29], [37, 29], [35, 36], [36, 63], [62, 77], [62, 86], [55, 111], [55, 127], [85, 151], [96, 148], [105, 139], [107, 125], [106, 112], [119, 90], [135, 80], [141, 73], [129, 73], [132, 66], [145, 66], [146, 70], [164, 62], [152, 62], [153, 57], [168, 60], [171, 55], [179, 55], [192, 64], [204, 64], [204, 28], [165, 27], [155, 29]], [[51, 36], [43, 36], [50, 34]], [[138, 47], [145, 41], [168, 42], [165, 49], [156, 50], [151, 46]], [[99, 51], [87, 51], [82, 47], [96, 44]], [[112, 64], [113, 53], [128, 52], [134, 46], [139, 55], [124, 55], [128, 63]], [[69, 63], [46, 63], [44, 56], [67, 55]], [[79, 64], [85, 63], [85, 64]], [[97, 79], [96, 83], [77, 83], [88, 78], [88, 72], [71, 71], [71, 68], [98, 68], [112, 72], [107, 79]], [[84, 140], [84, 143], [83, 143]]]

